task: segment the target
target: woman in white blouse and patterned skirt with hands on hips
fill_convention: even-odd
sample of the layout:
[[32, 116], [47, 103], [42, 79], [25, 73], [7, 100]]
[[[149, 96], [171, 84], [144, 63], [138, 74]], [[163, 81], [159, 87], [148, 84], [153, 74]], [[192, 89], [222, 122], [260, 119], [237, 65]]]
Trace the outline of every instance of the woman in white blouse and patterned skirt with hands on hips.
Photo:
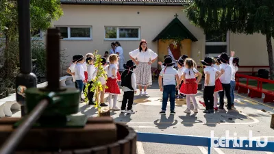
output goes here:
[[[158, 57], [157, 53], [147, 48], [146, 40], [141, 40], [139, 49], [129, 53], [129, 57], [137, 64], [134, 73], [136, 74], [136, 83], [139, 86], [140, 95], [147, 95], [147, 86], [152, 84], [151, 64]], [[144, 92], [142, 92], [144, 87]]]

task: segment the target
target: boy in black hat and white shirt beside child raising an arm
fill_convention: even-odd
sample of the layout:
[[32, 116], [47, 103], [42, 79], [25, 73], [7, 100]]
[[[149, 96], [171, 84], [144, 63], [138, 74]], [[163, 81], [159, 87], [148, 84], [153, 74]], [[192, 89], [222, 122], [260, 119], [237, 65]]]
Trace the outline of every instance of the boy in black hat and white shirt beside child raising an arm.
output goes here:
[[227, 64], [229, 61], [227, 53], [222, 53], [220, 55], [220, 60], [221, 60], [220, 69], [222, 73], [220, 77], [220, 81], [223, 86], [223, 91], [219, 92], [219, 95], [220, 95], [219, 109], [223, 110], [223, 105], [224, 105], [223, 97], [226, 96], [227, 110], [232, 110], [232, 102], [230, 97], [230, 81], [232, 79], [232, 68], [231, 66], [229, 66], [229, 64]]

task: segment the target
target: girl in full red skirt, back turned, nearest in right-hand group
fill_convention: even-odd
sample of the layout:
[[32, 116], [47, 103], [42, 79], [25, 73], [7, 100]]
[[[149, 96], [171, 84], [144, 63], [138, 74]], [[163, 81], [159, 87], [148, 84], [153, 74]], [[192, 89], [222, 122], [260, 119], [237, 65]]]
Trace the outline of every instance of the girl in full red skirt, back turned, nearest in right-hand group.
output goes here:
[[[194, 113], [198, 113], [197, 102], [195, 99], [195, 94], [197, 94], [198, 83], [201, 81], [201, 73], [194, 68], [195, 62], [191, 58], [186, 58], [184, 61], [185, 70], [182, 75], [184, 84], [180, 88], [180, 93], [186, 95], [186, 105], [187, 109], [184, 111], [186, 114], [190, 114], [190, 98], [192, 99], [194, 106]], [[198, 76], [198, 81], [196, 81], [195, 75]]]

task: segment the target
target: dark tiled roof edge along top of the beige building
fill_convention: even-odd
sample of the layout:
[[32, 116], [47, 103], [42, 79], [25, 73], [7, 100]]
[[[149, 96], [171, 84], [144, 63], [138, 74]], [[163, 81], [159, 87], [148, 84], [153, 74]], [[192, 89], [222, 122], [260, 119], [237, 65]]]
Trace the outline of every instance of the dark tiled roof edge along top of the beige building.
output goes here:
[[112, 1], [61, 1], [66, 5], [152, 5], [152, 6], [182, 6], [189, 3], [153, 3], [153, 2], [112, 2]]

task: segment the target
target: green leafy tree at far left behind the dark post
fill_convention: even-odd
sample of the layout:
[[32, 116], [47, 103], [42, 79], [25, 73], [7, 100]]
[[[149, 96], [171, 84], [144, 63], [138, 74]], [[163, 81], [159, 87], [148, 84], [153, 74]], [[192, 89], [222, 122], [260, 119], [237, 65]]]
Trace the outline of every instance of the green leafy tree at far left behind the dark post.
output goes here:
[[[0, 1], [0, 85], [12, 88], [18, 73], [18, 11], [17, 0]], [[51, 21], [62, 16], [60, 0], [30, 0], [31, 32], [46, 30]], [[1, 91], [0, 87], [0, 91]]]

